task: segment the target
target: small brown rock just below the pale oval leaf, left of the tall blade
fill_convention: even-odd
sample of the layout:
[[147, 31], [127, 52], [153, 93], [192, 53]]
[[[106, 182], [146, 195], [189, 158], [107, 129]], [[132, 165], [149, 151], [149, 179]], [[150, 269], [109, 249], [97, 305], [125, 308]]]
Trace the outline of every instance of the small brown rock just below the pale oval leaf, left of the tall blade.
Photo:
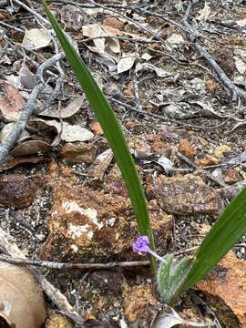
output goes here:
[[91, 164], [97, 157], [97, 146], [92, 143], [81, 146], [67, 143], [60, 150], [60, 155], [70, 163]]

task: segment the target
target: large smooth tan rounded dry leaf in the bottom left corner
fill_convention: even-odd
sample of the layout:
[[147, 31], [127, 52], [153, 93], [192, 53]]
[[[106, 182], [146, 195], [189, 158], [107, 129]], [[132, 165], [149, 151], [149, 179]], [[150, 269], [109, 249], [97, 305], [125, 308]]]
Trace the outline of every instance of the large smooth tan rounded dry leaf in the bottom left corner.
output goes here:
[[41, 328], [46, 320], [44, 296], [26, 268], [0, 262], [1, 327]]

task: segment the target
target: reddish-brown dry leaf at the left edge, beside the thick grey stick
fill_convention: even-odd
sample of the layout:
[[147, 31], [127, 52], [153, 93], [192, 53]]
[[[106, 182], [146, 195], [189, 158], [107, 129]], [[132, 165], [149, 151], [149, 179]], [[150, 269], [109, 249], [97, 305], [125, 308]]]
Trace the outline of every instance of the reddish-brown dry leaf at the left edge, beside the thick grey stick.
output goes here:
[[20, 92], [5, 81], [0, 82], [0, 90], [4, 96], [0, 98], [0, 110], [5, 118], [17, 120], [20, 116], [20, 110], [24, 107], [25, 100]]

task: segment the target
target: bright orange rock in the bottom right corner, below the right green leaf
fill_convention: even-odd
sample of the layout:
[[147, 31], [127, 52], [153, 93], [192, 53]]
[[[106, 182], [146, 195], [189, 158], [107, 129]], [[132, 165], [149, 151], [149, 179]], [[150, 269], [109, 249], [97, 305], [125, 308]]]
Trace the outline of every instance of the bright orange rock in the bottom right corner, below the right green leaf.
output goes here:
[[246, 262], [231, 251], [196, 289], [228, 328], [246, 327]]

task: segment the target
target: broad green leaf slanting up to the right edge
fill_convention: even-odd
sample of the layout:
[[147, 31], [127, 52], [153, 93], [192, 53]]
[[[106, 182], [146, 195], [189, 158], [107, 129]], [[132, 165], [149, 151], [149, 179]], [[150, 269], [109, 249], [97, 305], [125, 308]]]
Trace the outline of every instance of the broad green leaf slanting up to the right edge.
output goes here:
[[200, 244], [179, 292], [186, 292], [203, 279], [245, 233], [246, 189], [243, 189], [223, 211]]

